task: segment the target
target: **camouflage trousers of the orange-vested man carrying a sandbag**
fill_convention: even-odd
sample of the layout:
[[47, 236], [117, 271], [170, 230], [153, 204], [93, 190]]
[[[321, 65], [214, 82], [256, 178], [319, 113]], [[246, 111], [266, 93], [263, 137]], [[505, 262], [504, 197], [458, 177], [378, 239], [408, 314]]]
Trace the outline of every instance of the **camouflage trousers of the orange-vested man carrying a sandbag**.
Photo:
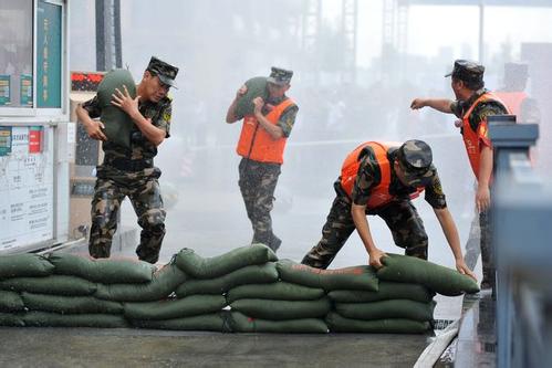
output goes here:
[[242, 158], [239, 165], [239, 186], [246, 211], [253, 228], [252, 243], [263, 243], [277, 250], [281, 240], [272, 232], [274, 190], [280, 176], [279, 164], [265, 164]]

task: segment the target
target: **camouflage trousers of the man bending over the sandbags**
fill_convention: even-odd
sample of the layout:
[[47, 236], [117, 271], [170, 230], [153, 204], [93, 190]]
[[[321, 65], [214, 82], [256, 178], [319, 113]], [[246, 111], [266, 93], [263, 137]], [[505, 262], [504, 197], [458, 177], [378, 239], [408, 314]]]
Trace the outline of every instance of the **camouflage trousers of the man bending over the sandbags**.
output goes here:
[[[395, 244], [404, 248], [405, 254], [427, 260], [428, 239], [424, 222], [409, 200], [392, 202], [374, 212], [371, 211], [369, 214], [377, 214], [385, 221]], [[306, 253], [301, 263], [326, 269], [355, 229], [351, 215], [351, 200], [339, 193], [322, 228], [322, 239]]]

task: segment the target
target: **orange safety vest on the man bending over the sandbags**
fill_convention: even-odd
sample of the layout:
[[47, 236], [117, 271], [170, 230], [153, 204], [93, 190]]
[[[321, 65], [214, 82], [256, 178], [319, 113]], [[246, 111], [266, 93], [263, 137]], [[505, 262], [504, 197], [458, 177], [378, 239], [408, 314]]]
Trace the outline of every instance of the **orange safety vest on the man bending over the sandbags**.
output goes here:
[[[366, 141], [347, 155], [341, 167], [341, 187], [347, 193], [348, 198], [351, 198], [353, 193], [353, 187], [356, 181], [356, 176], [358, 175], [358, 167], [361, 166], [358, 156], [361, 155], [361, 151], [368, 146], [374, 150], [379, 170], [382, 171], [382, 181], [372, 190], [368, 203], [366, 203], [366, 208], [375, 209], [392, 202], [396, 198], [389, 193], [392, 162], [389, 162], [387, 158], [387, 153], [389, 151], [389, 148], [398, 147], [400, 144], [396, 141]], [[417, 198], [424, 189], [425, 187], [417, 187], [416, 191], [410, 193], [410, 199]]]

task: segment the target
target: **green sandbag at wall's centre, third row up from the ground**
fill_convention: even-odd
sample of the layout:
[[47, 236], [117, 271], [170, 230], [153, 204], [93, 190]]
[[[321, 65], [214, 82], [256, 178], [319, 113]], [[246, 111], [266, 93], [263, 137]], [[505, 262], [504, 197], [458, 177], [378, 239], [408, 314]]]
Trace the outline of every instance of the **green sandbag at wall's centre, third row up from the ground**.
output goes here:
[[238, 299], [315, 301], [324, 295], [322, 288], [313, 288], [279, 281], [273, 284], [250, 284], [231, 288], [226, 295], [230, 304]]

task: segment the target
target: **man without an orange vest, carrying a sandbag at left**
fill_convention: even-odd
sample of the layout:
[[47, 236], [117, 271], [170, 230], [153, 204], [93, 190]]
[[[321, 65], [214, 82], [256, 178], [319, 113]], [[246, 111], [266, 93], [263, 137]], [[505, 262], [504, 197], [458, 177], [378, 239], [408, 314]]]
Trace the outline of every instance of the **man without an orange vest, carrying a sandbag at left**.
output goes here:
[[107, 140], [104, 125], [94, 120], [102, 108], [97, 95], [76, 107], [76, 116], [93, 139], [103, 140], [104, 161], [97, 167], [92, 199], [92, 228], [88, 250], [95, 257], [108, 257], [112, 238], [117, 228], [117, 213], [125, 197], [131, 199], [138, 224], [140, 242], [136, 249], [139, 260], [156, 263], [165, 236], [165, 209], [159, 191], [162, 174], [154, 166], [157, 146], [169, 137], [171, 99], [168, 90], [175, 86], [178, 67], [152, 56], [136, 98], [126, 86], [116, 90], [112, 104], [123, 109], [134, 122], [131, 148]]

